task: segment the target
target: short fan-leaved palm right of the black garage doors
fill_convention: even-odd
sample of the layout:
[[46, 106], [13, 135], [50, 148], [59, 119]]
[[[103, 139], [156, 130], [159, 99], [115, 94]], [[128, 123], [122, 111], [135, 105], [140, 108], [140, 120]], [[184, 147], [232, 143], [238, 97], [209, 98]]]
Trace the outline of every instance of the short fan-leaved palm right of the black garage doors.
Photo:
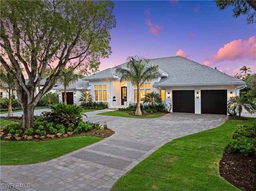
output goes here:
[[236, 97], [230, 98], [230, 100], [228, 101], [228, 108], [230, 110], [237, 109], [237, 111], [239, 113], [239, 118], [241, 118], [241, 112], [242, 112], [243, 108], [246, 111], [251, 112], [252, 110], [255, 109], [255, 106], [246, 97], [241, 95], [241, 96], [236, 96]]

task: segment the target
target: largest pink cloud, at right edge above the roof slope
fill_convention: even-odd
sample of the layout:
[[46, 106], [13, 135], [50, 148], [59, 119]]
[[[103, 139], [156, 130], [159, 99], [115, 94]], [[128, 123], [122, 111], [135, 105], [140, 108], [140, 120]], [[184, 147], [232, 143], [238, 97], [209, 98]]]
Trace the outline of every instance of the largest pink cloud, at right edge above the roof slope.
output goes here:
[[215, 62], [235, 61], [237, 59], [249, 58], [256, 59], [256, 36], [248, 40], [233, 40], [221, 47], [211, 59], [204, 61], [204, 65], [210, 66]]

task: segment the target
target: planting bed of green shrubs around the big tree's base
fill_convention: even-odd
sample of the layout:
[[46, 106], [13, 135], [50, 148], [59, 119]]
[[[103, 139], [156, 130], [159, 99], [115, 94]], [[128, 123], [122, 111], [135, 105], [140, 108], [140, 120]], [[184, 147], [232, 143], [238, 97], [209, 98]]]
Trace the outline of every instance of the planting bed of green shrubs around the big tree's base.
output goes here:
[[[51, 112], [43, 112], [41, 116], [34, 116], [32, 127], [22, 129], [22, 121], [7, 124], [0, 128], [0, 138], [4, 140], [43, 140], [78, 136], [88, 131], [108, 130], [107, 125], [82, 120], [80, 106], [54, 104], [50, 105]], [[110, 130], [112, 131], [112, 130]]]

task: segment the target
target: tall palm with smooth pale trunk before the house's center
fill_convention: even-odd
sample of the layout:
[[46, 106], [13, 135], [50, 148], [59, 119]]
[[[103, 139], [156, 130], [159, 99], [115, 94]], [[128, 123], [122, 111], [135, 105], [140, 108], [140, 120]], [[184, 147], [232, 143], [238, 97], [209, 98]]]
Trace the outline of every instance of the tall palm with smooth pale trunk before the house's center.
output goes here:
[[151, 81], [158, 75], [158, 66], [149, 65], [149, 60], [138, 56], [127, 58], [126, 68], [116, 66], [116, 74], [121, 76], [121, 81], [130, 81], [132, 85], [137, 85], [137, 108], [135, 115], [142, 115], [140, 110], [140, 86]]

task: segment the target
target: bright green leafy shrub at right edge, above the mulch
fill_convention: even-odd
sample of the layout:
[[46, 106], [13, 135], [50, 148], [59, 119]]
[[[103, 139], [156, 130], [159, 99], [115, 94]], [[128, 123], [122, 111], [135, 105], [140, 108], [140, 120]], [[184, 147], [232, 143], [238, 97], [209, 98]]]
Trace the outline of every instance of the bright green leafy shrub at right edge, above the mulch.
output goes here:
[[245, 156], [256, 155], [256, 123], [238, 126], [228, 152], [240, 152]]

